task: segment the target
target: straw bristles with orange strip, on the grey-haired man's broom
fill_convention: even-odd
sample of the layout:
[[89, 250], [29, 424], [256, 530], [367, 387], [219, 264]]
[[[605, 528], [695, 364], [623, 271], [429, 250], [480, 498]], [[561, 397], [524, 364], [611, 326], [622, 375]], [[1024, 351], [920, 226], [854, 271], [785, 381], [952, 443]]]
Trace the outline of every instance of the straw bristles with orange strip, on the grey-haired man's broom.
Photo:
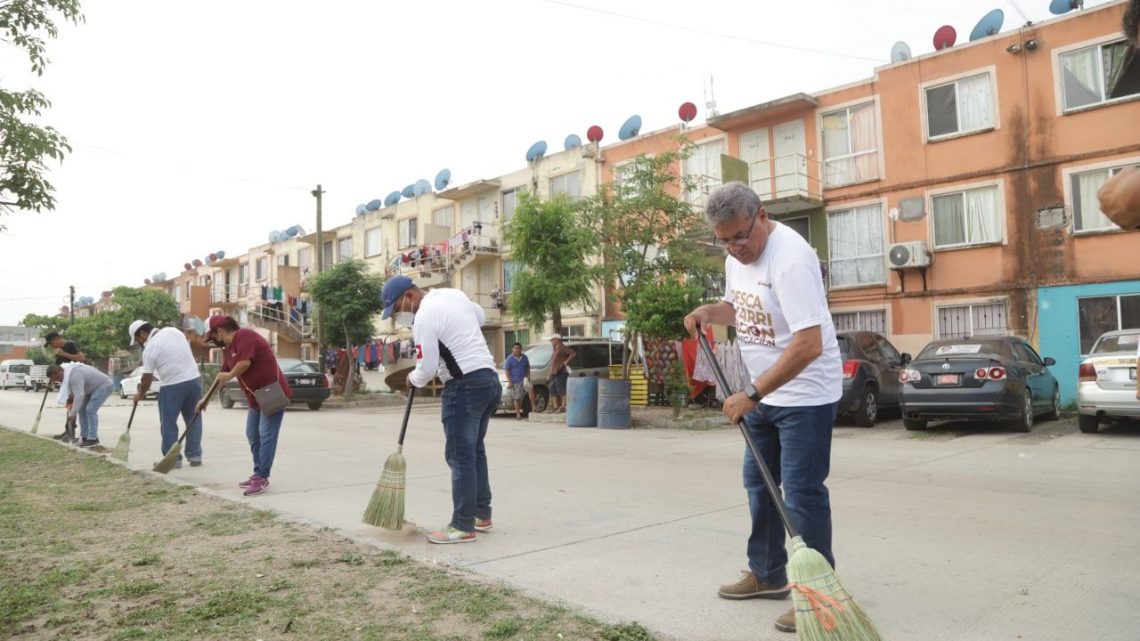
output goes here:
[[882, 641], [871, 617], [858, 607], [831, 563], [800, 537], [792, 538], [788, 578], [796, 605], [799, 641]]

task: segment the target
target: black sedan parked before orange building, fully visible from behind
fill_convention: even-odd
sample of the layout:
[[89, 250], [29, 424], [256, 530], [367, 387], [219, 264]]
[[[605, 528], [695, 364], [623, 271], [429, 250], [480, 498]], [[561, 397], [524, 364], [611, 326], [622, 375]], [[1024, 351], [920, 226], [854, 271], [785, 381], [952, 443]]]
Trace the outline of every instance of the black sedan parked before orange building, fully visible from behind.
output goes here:
[[1054, 364], [1016, 336], [933, 341], [898, 375], [903, 425], [1009, 420], [1027, 432], [1039, 414], [1060, 417], [1060, 386], [1049, 371]]

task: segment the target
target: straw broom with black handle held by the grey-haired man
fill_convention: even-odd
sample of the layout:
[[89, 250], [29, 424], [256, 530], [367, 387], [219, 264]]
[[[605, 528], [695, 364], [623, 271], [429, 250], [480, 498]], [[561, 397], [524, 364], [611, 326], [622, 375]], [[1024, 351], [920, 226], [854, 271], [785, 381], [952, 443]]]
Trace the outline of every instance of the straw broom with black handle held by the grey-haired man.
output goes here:
[[[712, 348], [703, 333], [698, 334], [701, 350], [712, 366], [717, 384], [725, 396], [732, 393], [728, 381], [712, 356]], [[791, 537], [792, 552], [788, 558], [788, 578], [792, 589], [792, 602], [796, 607], [796, 636], [800, 641], [881, 641], [871, 618], [858, 607], [850, 592], [836, 576], [831, 563], [815, 550], [804, 543], [804, 538], [791, 522], [791, 516], [784, 505], [783, 497], [772, 478], [759, 447], [748, 433], [743, 423], [738, 423], [740, 432], [748, 443], [748, 448], [756, 460], [756, 466], [764, 477], [764, 486], [783, 521], [788, 536]]]

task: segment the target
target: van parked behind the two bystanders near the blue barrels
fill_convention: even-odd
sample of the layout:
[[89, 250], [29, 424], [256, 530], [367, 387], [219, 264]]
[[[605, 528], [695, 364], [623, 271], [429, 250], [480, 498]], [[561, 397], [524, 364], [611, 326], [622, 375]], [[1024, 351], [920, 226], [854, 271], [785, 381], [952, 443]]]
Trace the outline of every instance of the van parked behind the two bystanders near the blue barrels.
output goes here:
[[[621, 364], [621, 343], [603, 338], [567, 338], [565, 344], [577, 354], [570, 359], [571, 376], [610, 378], [610, 365]], [[531, 343], [522, 352], [530, 360], [530, 382], [535, 386], [535, 407], [530, 406], [530, 397], [523, 399], [524, 414], [545, 412], [551, 398], [548, 381], [551, 379], [551, 357], [554, 348], [549, 341]], [[502, 360], [499, 362], [502, 365]], [[496, 412], [514, 412], [514, 400], [506, 389], [506, 372], [499, 370], [499, 383], [503, 386], [503, 397]]]

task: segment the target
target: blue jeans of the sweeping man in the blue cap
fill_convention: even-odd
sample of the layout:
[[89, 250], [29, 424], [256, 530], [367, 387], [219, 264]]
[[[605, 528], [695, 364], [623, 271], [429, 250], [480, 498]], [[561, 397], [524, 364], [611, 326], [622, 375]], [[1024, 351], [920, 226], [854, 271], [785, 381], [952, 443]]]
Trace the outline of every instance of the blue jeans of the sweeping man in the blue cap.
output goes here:
[[483, 438], [503, 396], [494, 370], [479, 370], [443, 386], [443, 457], [451, 468], [451, 527], [475, 529], [491, 518], [491, 484]]

